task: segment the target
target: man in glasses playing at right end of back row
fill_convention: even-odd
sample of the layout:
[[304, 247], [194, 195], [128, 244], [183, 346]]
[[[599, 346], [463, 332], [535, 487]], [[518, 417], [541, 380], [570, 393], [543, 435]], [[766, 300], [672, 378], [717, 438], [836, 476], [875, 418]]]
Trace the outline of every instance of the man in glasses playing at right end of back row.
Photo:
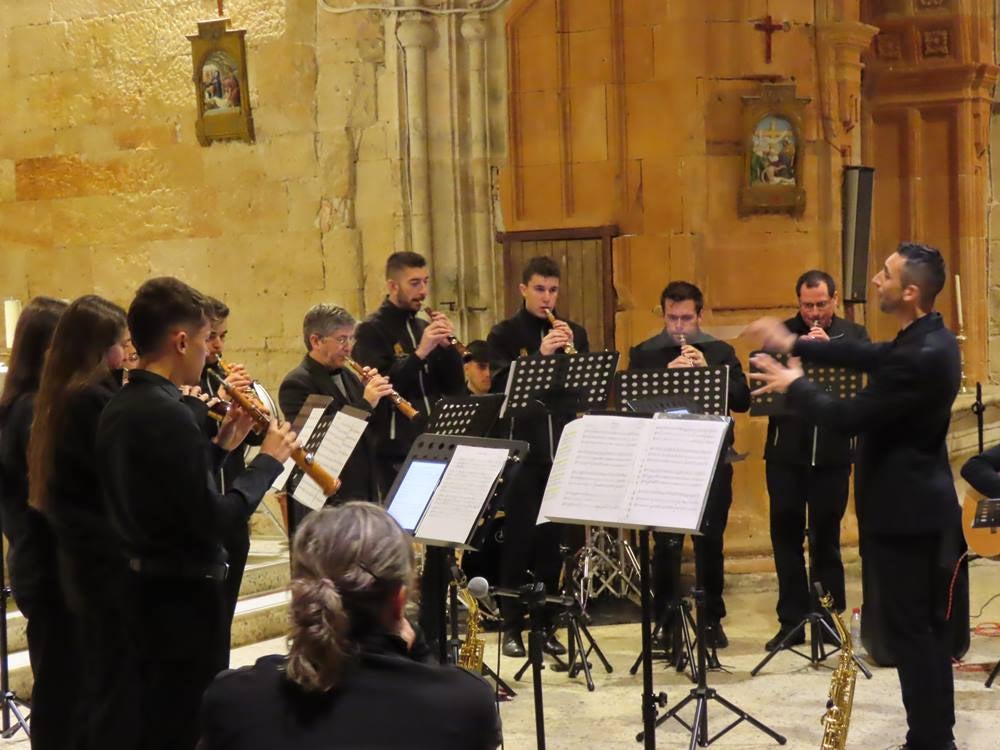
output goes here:
[[[837, 286], [830, 274], [806, 271], [795, 284], [795, 294], [799, 312], [785, 326], [796, 336], [811, 341], [868, 341], [864, 326], [837, 316]], [[813, 609], [802, 546], [807, 508], [812, 579], [830, 593], [838, 612], [847, 606], [840, 521], [850, 493], [853, 440], [798, 415], [773, 416], [767, 423], [764, 461], [780, 623], [778, 633], [765, 646], [771, 651]], [[804, 642], [805, 632], [799, 630], [786, 643]]]

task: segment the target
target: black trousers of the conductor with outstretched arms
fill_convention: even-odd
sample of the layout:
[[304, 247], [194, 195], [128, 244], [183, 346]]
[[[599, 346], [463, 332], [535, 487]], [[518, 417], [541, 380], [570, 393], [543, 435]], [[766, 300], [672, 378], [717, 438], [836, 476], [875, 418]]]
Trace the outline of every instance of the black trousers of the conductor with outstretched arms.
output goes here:
[[[906, 744], [912, 750], [942, 750], [954, 737], [951, 630], [945, 620], [951, 571], [942, 564], [942, 556], [957, 560], [958, 545], [949, 535], [862, 540], [862, 560], [881, 596], [880, 624], [897, 658]], [[946, 548], [948, 541], [951, 551]]]

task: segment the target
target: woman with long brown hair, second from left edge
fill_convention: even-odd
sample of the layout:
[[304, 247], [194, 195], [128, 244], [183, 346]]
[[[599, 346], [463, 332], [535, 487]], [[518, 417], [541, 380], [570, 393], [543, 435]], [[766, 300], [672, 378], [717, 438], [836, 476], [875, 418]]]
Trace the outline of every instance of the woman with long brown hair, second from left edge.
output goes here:
[[90, 294], [67, 308], [42, 371], [28, 451], [30, 504], [55, 533], [70, 613], [65, 637], [77, 646], [74, 747], [100, 746], [126, 685], [115, 667], [129, 639], [120, 617], [125, 563], [104, 509], [95, 444], [101, 412], [120, 388], [113, 371], [127, 338], [118, 305]]

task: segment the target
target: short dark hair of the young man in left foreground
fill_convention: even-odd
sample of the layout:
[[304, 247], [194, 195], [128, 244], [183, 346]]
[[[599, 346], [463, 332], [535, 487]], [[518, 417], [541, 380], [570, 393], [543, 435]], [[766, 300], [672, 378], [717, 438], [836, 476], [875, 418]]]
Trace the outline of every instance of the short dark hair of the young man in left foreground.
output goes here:
[[139, 356], [156, 351], [176, 326], [201, 327], [212, 315], [208, 298], [172, 276], [150, 279], [128, 308], [128, 329]]

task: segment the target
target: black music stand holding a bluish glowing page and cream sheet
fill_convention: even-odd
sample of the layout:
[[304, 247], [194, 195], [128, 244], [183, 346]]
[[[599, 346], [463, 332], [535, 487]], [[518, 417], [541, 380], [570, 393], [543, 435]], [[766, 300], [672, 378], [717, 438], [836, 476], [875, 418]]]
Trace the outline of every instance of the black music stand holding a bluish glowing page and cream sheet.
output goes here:
[[[497, 477], [493, 486], [490, 488], [489, 493], [479, 502], [478, 513], [469, 526], [468, 533], [465, 534], [464, 539], [420, 539], [418, 536], [420, 521], [424, 518], [427, 512], [430, 501], [434, 495], [434, 490], [437, 488], [441, 477], [444, 476], [444, 471], [447, 469], [447, 465], [451, 461], [451, 458], [455, 453], [455, 449], [460, 445], [506, 450], [508, 454], [507, 461], [504, 468], [501, 470], [499, 477]], [[455, 550], [473, 549], [473, 543], [477, 541], [477, 533], [483, 526], [483, 516], [489, 511], [490, 507], [498, 501], [503, 490], [511, 485], [513, 477], [516, 475], [516, 472], [520, 469], [521, 463], [528, 455], [528, 450], [529, 446], [523, 440], [494, 440], [490, 438], [466, 437], [458, 435], [433, 435], [430, 433], [424, 433], [413, 441], [413, 445], [410, 447], [410, 452], [406, 456], [406, 461], [400, 468], [399, 474], [396, 476], [396, 480], [393, 482], [392, 488], [386, 496], [386, 507], [389, 514], [396, 518], [400, 525], [403, 526], [404, 530], [413, 534], [419, 541], [427, 546], [428, 555], [438, 556], [433, 564], [442, 566], [444, 570], [451, 570], [454, 575], [454, 571], [457, 570], [457, 565], [455, 564]], [[436, 481], [432, 481], [432, 486], [425, 484], [426, 497], [423, 498], [423, 506], [418, 508], [418, 515], [414, 516], [411, 513], [409, 514], [411, 516], [409, 520], [403, 518], [401, 511], [399, 510], [399, 506], [394, 506], [394, 502], [396, 502], [397, 496], [401, 495], [400, 490], [408, 487], [408, 478], [410, 473], [427, 471], [428, 468], [430, 468], [433, 472], [434, 466], [439, 467], [440, 470], [437, 472]], [[408, 490], [404, 489], [404, 491]], [[396, 508], [395, 512], [394, 507]], [[444, 583], [444, 586], [447, 587], [448, 584]], [[444, 610], [446, 592], [441, 589], [436, 593], [436, 600], [441, 602], [439, 616], [437, 618], [440, 623], [440, 629], [435, 634], [440, 647], [438, 655], [442, 663], [445, 663], [446, 661], [452, 661], [454, 663], [457, 661], [458, 649], [460, 647], [460, 641], [457, 638], [458, 604], [457, 601], [453, 601], [451, 624], [455, 637], [449, 640], [447, 638]], [[456, 592], [453, 590], [452, 593], [455, 594]], [[455, 596], [454, 599], [457, 600], [457, 596]], [[510, 690], [509, 686], [502, 682], [499, 675], [489, 669], [486, 664], [483, 666], [484, 672], [488, 670], [487, 674], [496, 681], [498, 688], [502, 688], [506, 692], [513, 694], [513, 691]]]

